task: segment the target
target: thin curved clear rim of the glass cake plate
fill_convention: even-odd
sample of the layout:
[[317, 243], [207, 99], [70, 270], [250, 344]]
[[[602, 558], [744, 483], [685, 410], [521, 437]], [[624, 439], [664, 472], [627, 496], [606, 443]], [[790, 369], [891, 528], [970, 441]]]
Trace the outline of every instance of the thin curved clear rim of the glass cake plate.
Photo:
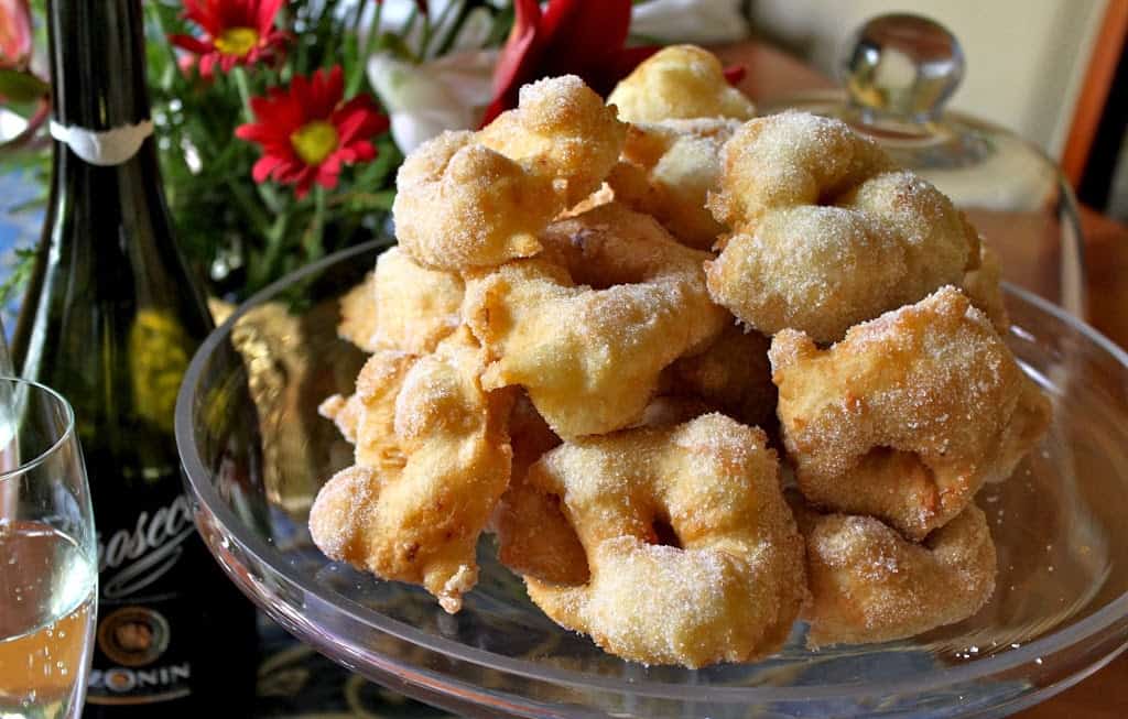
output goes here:
[[[200, 500], [206, 505], [208, 511], [215, 515], [215, 518], [224, 529], [228, 529], [229, 532], [229, 527], [231, 526], [241, 527], [244, 530], [247, 527], [230, 509], [227, 503], [222, 500], [219, 492], [215, 490], [214, 485], [204, 480], [205, 477], [210, 476], [210, 471], [204, 465], [203, 459], [200, 456], [196, 444], [193, 441], [193, 392], [190, 390], [199, 383], [210, 356], [218, 348], [220, 343], [224, 341], [230, 336], [235, 323], [248, 311], [277, 295], [282, 290], [289, 287], [290, 285], [302, 281], [309, 275], [317, 274], [331, 265], [344, 261], [351, 257], [364, 255], [372, 250], [390, 248], [394, 245], [395, 240], [393, 238], [379, 237], [362, 245], [327, 255], [326, 257], [323, 257], [321, 259], [301, 267], [271, 283], [239, 304], [231, 316], [204, 339], [203, 344], [201, 344], [196, 354], [193, 356], [192, 362], [188, 364], [188, 369], [184, 374], [184, 380], [176, 402], [176, 444], [180, 454], [180, 462], [183, 465], [182, 469], [192, 490], [196, 494]], [[1121, 349], [1116, 343], [1102, 335], [1099, 330], [1077, 319], [1058, 305], [1028, 290], [1014, 286], [1006, 282], [1003, 283], [1003, 286], [1007, 294], [1013, 294], [1022, 301], [1033, 304], [1042, 312], [1050, 314], [1058, 321], [1061, 321], [1075, 331], [1078, 331], [1082, 336], [1093, 341], [1098, 347], [1110, 354], [1120, 365], [1128, 370], [1128, 352]], [[231, 533], [235, 534], [233, 532]], [[902, 678], [883, 683], [839, 683], [791, 687], [673, 685], [649, 680], [634, 680], [625, 682], [613, 677], [590, 675], [572, 669], [545, 667], [528, 659], [506, 657], [486, 651], [484, 649], [470, 647], [444, 637], [429, 634], [399, 620], [364, 610], [364, 607], [356, 605], [344, 595], [337, 593], [323, 594], [321, 591], [324, 587], [320, 587], [316, 582], [312, 582], [309, 578], [301, 577], [297, 572], [292, 572], [292, 566], [285, 560], [284, 557], [282, 557], [279, 550], [253, 532], [243, 532], [236, 535], [236, 539], [249, 552], [252, 552], [258, 561], [267, 565], [274, 572], [284, 577], [297, 587], [300, 587], [303, 592], [317, 596], [320, 601], [331, 604], [335, 610], [342, 612], [343, 614], [347, 614], [354, 621], [403, 641], [416, 645], [443, 656], [448, 656], [459, 662], [467, 662], [488, 669], [502, 671], [528, 680], [540, 682], [547, 681], [588, 690], [632, 693], [655, 699], [679, 699], [686, 701], [724, 703], [748, 702], [751, 700], [759, 702], [790, 701], [807, 703], [825, 699], [865, 699], [867, 696], [873, 696], [875, 693], [880, 695], [892, 695], [906, 692], [927, 692], [945, 686], [972, 682], [985, 676], [1008, 672], [1016, 667], [1036, 663], [1042, 657], [1050, 656], [1055, 653], [1067, 649], [1068, 647], [1081, 643], [1082, 641], [1108, 629], [1114, 624], [1117, 620], [1128, 618], [1128, 592], [1125, 592], [1110, 601], [1104, 607], [1098, 610], [1092, 615], [1086, 616], [1072, 627], [1055, 631], [1045, 637], [1040, 637], [1019, 647], [1017, 649], [1011, 649], [1010, 651], [1003, 654], [993, 655], [959, 666], [931, 671], [927, 673], [927, 678], [924, 681], [922, 681], [922, 677], [917, 676], [914, 678]], [[372, 616], [365, 616], [365, 614], [371, 614]], [[564, 630], [562, 629], [561, 631]], [[1120, 649], [1122, 650], [1125, 646], [1128, 645], [1122, 645]], [[1116, 654], [1119, 654], [1119, 650], [1110, 655], [1110, 658]], [[391, 662], [397, 665], [403, 664], [398, 659], [394, 659], [391, 657], [386, 657], [386, 659], [391, 659]], [[441, 681], [444, 683], [465, 684], [465, 682], [460, 682], [460, 680], [452, 681], [452, 677], [442, 673], [432, 673], [428, 669], [421, 668], [413, 668], [412, 671], [415, 673], [441, 677]]]

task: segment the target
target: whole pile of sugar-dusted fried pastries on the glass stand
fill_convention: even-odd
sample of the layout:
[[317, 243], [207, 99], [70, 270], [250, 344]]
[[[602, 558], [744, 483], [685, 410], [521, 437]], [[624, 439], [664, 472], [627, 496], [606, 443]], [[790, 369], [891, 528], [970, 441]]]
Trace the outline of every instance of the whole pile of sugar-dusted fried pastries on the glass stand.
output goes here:
[[328, 557], [457, 612], [492, 532], [555, 622], [687, 667], [992, 595], [973, 498], [1049, 403], [1001, 338], [994, 256], [873, 142], [754, 118], [671, 47], [607, 103], [543, 80], [425, 143], [394, 213], [342, 302], [371, 357], [321, 408], [355, 445], [310, 515]]

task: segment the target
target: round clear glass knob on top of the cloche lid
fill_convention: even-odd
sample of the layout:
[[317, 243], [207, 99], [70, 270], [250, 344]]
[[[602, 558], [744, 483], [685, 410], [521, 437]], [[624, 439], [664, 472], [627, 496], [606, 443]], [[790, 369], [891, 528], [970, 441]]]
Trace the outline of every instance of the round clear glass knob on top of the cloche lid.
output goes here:
[[904, 122], [938, 117], [963, 79], [963, 51], [943, 25], [918, 15], [878, 16], [839, 63], [849, 101]]

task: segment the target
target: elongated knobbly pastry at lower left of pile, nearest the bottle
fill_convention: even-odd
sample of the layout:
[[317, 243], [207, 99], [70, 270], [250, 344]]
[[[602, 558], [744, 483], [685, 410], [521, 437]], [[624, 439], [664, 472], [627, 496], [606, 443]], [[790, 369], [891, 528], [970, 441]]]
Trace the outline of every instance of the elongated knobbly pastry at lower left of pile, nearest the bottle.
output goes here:
[[[378, 400], [385, 421], [386, 398], [398, 390], [394, 440], [405, 463], [397, 469], [360, 461], [365, 411], [358, 463], [318, 492], [310, 534], [331, 559], [421, 584], [444, 610], [457, 612], [477, 582], [478, 535], [509, 483], [505, 419], [512, 397], [482, 390], [481, 349], [466, 330], [440, 343], [433, 355], [403, 356], [406, 370], [397, 366], [391, 375], [386, 367], [372, 370], [363, 379], [384, 384], [372, 388], [358, 379], [356, 391], [367, 410]], [[378, 397], [370, 397], [373, 391]]]

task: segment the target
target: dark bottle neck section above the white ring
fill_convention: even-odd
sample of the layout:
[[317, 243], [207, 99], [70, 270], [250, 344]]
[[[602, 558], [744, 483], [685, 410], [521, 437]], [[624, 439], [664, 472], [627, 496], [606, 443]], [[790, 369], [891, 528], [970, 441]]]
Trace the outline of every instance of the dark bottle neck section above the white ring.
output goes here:
[[141, 0], [49, 0], [47, 18], [55, 125], [106, 133], [148, 121]]

